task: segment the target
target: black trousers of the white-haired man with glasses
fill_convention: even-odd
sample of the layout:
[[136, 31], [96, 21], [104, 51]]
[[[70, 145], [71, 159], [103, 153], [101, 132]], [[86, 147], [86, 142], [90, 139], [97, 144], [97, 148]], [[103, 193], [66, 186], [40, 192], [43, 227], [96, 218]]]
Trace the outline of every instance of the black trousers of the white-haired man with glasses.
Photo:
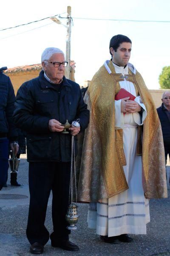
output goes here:
[[[51, 240], [67, 240], [70, 230], [65, 215], [68, 209], [71, 163], [30, 162], [30, 205], [26, 235], [30, 244], [45, 245]], [[53, 233], [45, 227], [48, 198], [52, 190]]]

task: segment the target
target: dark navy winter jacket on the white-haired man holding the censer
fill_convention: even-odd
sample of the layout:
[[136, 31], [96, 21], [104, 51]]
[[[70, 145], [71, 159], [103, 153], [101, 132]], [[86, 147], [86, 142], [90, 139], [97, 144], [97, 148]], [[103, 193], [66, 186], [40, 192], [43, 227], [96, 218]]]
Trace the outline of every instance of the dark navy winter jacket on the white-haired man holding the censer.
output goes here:
[[[39, 77], [25, 82], [17, 92], [14, 122], [27, 132], [27, 160], [61, 161], [71, 160], [71, 134], [50, 132], [48, 122], [56, 119], [65, 124], [66, 119], [80, 119], [81, 130], [88, 126], [89, 111], [84, 103], [79, 84], [63, 77], [62, 85], [51, 84]], [[75, 136], [77, 154], [77, 136]]]

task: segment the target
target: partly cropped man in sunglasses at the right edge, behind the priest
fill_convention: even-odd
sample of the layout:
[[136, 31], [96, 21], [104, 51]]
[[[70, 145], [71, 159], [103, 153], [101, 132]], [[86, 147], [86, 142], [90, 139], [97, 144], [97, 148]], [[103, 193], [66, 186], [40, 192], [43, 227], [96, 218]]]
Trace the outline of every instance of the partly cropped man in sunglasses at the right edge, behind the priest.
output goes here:
[[157, 112], [161, 122], [164, 139], [165, 163], [167, 164], [167, 155], [169, 154], [170, 157], [170, 91], [164, 92], [161, 100], [162, 105], [157, 108]]

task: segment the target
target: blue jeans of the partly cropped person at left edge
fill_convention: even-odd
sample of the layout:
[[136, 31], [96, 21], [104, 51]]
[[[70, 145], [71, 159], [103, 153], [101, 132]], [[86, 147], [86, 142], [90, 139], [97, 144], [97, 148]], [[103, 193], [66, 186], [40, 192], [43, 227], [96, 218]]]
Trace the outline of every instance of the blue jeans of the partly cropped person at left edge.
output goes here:
[[0, 187], [6, 183], [8, 177], [8, 145], [7, 138], [0, 139]]

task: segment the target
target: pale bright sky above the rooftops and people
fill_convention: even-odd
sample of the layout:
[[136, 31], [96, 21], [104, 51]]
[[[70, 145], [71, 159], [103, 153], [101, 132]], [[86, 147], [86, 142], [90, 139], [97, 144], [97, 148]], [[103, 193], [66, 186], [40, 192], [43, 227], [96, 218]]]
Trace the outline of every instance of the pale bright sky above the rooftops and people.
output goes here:
[[[122, 34], [132, 41], [129, 62], [142, 74], [149, 89], [159, 89], [162, 68], [170, 66], [170, 22], [121, 20], [170, 21], [170, 0], [8, 0], [1, 3], [0, 30], [58, 14], [66, 17], [67, 6], [71, 6], [73, 20], [71, 60], [76, 62], [77, 83], [83, 85], [92, 79], [111, 58], [112, 36]], [[61, 22], [65, 25], [66, 19]], [[66, 36], [65, 26], [49, 18], [0, 31], [0, 67], [40, 63], [46, 47], [65, 52]]]

